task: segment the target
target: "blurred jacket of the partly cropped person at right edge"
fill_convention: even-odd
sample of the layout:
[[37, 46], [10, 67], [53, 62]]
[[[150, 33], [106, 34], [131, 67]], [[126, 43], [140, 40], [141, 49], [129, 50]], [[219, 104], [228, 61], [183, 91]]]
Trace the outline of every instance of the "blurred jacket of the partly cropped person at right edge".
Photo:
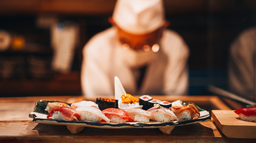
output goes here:
[[246, 29], [229, 49], [230, 91], [256, 101], [256, 27]]

